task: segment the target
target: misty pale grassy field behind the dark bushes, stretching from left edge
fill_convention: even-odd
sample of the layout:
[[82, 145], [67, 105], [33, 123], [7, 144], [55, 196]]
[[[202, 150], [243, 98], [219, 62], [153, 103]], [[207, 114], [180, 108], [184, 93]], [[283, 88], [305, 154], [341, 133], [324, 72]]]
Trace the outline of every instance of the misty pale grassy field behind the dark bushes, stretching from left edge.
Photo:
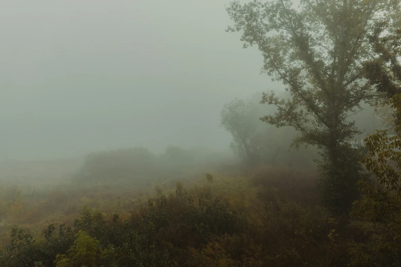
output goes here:
[[41, 236], [43, 229], [51, 223], [72, 225], [83, 206], [99, 209], [105, 214], [117, 211], [129, 213], [135, 205], [155, 195], [156, 189], [174, 192], [177, 182], [189, 187], [201, 186], [205, 182], [203, 168], [223, 173], [223, 169], [230, 169], [224, 163], [199, 164], [187, 170], [182, 179], [111, 180], [81, 184], [72, 177], [82, 162], [83, 159], [78, 158], [0, 164], [1, 245], [9, 243], [13, 225]]

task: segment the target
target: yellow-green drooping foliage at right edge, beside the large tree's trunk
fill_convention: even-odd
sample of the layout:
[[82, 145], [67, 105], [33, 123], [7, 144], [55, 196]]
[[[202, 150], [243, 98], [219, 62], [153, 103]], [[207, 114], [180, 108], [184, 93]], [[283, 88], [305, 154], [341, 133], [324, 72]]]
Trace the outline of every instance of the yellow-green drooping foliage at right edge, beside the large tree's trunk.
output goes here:
[[[401, 95], [390, 99], [397, 117], [401, 114]], [[401, 125], [396, 124], [399, 132]], [[361, 198], [354, 202], [354, 224], [364, 229], [362, 240], [350, 244], [352, 266], [398, 266], [401, 264], [401, 136], [388, 138], [378, 130], [365, 139], [367, 157], [362, 163], [372, 173], [358, 182]]]

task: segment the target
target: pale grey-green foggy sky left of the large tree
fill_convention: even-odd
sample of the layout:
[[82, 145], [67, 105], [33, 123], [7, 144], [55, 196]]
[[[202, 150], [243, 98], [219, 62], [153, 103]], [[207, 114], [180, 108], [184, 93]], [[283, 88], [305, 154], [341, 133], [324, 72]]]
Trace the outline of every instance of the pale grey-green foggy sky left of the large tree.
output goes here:
[[0, 1], [0, 159], [226, 148], [223, 104], [281, 86], [228, 3]]

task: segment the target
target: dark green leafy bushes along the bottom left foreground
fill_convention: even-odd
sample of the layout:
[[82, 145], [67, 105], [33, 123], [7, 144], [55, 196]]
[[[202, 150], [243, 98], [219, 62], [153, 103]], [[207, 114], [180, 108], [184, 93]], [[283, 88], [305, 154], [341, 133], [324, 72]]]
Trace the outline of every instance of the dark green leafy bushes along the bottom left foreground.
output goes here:
[[73, 229], [58, 228], [56, 233], [49, 225], [44, 239], [13, 228], [11, 243], [0, 250], [0, 265], [171, 266], [184, 261], [187, 247], [200, 248], [214, 236], [243, 229], [244, 222], [227, 203], [210, 196], [194, 202], [177, 183], [175, 197], [159, 192], [131, 220], [121, 221], [118, 214], [107, 220], [84, 206]]

